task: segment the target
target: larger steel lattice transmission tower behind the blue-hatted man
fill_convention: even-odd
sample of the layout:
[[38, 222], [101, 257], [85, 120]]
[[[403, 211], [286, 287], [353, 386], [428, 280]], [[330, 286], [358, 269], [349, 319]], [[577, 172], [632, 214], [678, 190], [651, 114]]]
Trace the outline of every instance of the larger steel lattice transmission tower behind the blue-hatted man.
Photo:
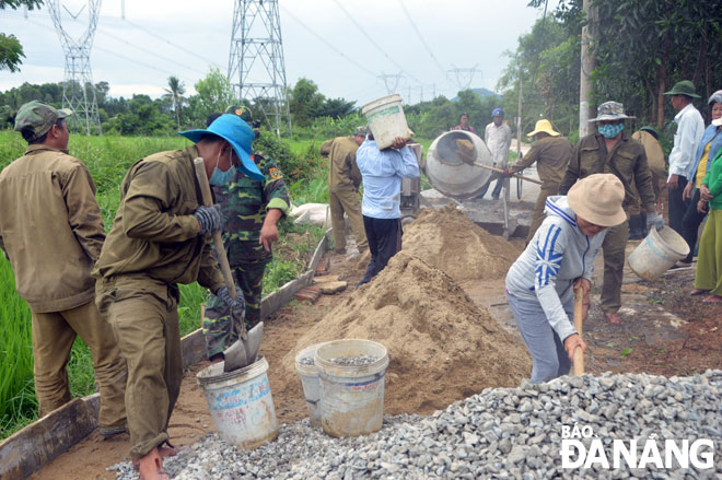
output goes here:
[[236, 0], [228, 78], [238, 99], [254, 102], [275, 124], [277, 136], [284, 124], [291, 132], [278, 0]]

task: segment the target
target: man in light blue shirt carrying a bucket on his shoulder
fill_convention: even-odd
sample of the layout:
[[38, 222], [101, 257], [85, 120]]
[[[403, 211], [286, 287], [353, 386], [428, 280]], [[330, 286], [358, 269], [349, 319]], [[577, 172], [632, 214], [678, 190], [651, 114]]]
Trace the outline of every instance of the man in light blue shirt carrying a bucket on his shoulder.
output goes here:
[[401, 249], [401, 178], [418, 178], [419, 163], [406, 140], [396, 138], [392, 148], [379, 150], [373, 133], [356, 152], [356, 163], [363, 178], [361, 213], [366, 231], [371, 261], [359, 285], [386, 267]]

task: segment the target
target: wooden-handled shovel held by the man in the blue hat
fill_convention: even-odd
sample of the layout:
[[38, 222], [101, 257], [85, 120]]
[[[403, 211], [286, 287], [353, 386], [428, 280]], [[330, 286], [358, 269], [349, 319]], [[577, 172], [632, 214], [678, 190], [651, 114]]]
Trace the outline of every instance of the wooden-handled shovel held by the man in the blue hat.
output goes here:
[[[213, 204], [213, 197], [210, 191], [208, 176], [206, 175], [203, 159], [198, 157], [194, 160], [193, 163], [196, 168], [198, 185], [200, 185], [200, 192], [203, 197], [203, 204], [206, 207], [211, 207]], [[236, 300], [233, 273], [231, 273], [231, 266], [225, 256], [225, 247], [223, 246], [221, 232], [218, 230], [213, 232], [213, 245], [216, 246], [216, 255], [218, 256], [218, 262], [221, 267], [221, 272], [223, 273], [223, 280], [225, 280], [225, 285], [229, 288], [229, 294], [231, 295], [231, 298]], [[246, 324], [243, 318], [236, 318], [233, 315], [233, 312], [231, 312], [231, 318], [233, 319], [234, 328], [240, 331], [238, 339], [223, 352], [225, 359], [223, 365], [224, 372], [232, 372], [254, 363], [258, 354], [258, 347], [260, 347], [260, 339], [264, 335], [263, 321], [253, 327], [249, 331], [246, 331]]]

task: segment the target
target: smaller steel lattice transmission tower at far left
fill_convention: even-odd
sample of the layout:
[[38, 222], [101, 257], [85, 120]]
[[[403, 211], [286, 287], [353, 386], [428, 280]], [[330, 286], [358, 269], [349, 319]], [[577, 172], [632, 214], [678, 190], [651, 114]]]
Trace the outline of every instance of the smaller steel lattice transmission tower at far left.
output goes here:
[[97, 115], [97, 102], [93, 86], [93, 74], [91, 72], [90, 54], [93, 47], [93, 37], [97, 26], [97, 17], [101, 12], [101, 0], [88, 0], [88, 28], [75, 39], [62, 26], [60, 9], [63, 9], [74, 21], [85, 9], [85, 5], [72, 14], [60, 0], [47, 0], [50, 16], [55, 30], [60, 37], [62, 50], [66, 54], [66, 77], [62, 82], [62, 107], [72, 109], [75, 115], [68, 118], [69, 127], [75, 131], [91, 130], [101, 131], [101, 118]]

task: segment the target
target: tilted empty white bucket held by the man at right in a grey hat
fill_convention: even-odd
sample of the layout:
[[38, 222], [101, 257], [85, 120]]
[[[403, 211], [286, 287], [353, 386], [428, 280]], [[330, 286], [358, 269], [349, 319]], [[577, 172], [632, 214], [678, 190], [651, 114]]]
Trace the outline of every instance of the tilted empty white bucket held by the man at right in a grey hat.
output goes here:
[[673, 229], [652, 229], [629, 256], [629, 268], [642, 280], [654, 280], [689, 254], [689, 245]]

